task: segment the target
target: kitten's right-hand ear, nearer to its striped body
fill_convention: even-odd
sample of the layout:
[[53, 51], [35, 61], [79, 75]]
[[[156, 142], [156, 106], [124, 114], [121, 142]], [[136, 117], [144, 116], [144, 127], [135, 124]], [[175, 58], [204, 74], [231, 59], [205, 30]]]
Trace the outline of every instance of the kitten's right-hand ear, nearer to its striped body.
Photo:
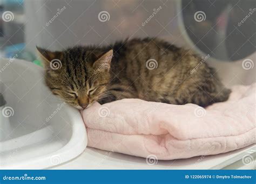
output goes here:
[[113, 50], [111, 49], [110, 51], [100, 56], [100, 58], [93, 63], [93, 69], [109, 72], [112, 57]]

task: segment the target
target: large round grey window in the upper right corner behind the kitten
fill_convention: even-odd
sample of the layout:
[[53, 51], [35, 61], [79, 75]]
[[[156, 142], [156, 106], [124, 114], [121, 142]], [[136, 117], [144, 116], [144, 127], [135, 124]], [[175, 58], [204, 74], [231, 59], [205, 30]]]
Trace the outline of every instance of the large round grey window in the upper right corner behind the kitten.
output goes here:
[[255, 52], [255, 0], [183, 0], [179, 7], [187, 39], [199, 52], [223, 61]]

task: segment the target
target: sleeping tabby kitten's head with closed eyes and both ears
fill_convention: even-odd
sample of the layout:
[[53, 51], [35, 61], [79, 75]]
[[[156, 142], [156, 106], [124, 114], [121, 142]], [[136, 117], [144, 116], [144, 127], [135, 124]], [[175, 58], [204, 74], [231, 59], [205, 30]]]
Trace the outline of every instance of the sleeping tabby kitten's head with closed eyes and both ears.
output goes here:
[[110, 82], [113, 51], [92, 52], [83, 47], [51, 52], [37, 47], [44, 62], [45, 82], [53, 94], [84, 109], [105, 95]]

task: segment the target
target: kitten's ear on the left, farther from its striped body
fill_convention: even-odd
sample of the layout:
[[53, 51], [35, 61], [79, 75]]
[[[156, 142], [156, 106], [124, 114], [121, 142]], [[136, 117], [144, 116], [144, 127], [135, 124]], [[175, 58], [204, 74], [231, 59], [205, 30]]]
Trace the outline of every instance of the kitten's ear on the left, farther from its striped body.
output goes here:
[[57, 52], [51, 52], [51, 51], [48, 51], [44, 48], [40, 48], [38, 46], [36, 46], [36, 48], [37, 48], [39, 56], [43, 60], [43, 63], [44, 63], [45, 67], [50, 66], [50, 62], [53, 59], [62, 60], [62, 58], [63, 58], [63, 53], [62, 52], [58, 52], [58, 51]]

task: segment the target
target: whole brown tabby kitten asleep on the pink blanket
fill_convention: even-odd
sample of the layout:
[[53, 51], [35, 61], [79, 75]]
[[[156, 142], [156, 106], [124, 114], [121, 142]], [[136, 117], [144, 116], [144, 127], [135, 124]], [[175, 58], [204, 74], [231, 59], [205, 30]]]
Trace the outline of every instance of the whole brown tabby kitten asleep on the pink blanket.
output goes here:
[[[226, 101], [231, 93], [197, 55], [156, 38], [62, 52], [37, 49], [47, 86], [78, 109], [123, 98], [205, 107]], [[61, 63], [56, 69], [57, 61]]]

